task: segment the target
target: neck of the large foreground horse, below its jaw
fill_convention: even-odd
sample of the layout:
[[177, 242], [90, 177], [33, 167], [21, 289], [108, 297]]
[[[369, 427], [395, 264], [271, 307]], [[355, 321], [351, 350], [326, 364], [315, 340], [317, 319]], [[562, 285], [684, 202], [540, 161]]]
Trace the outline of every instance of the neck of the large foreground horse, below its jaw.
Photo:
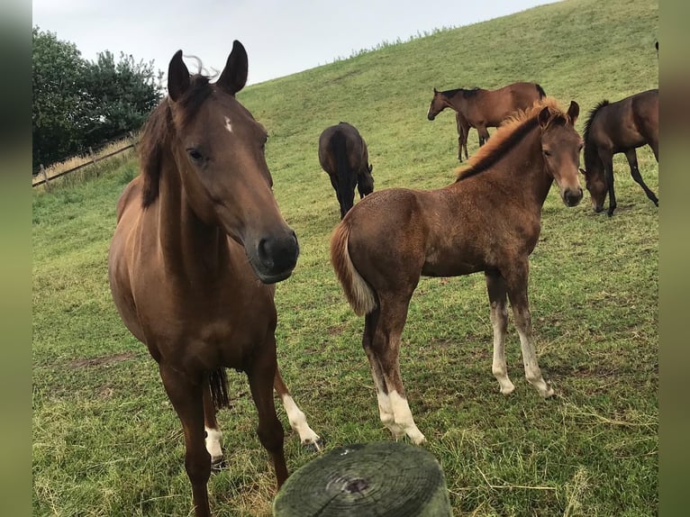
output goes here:
[[227, 235], [218, 226], [202, 222], [188, 203], [177, 165], [166, 159], [160, 175], [158, 229], [166, 268], [186, 277], [214, 275], [225, 268]]

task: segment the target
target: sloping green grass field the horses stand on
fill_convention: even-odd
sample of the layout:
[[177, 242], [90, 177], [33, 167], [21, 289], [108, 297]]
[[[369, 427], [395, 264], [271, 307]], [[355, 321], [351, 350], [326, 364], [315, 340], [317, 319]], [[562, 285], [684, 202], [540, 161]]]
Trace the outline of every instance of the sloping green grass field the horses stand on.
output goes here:
[[[600, 100], [658, 86], [657, 38], [657, 2], [568, 0], [241, 91], [268, 129], [277, 201], [301, 245], [295, 273], [277, 286], [278, 361], [328, 448], [390, 436], [360, 345], [362, 319], [328, 259], [340, 212], [318, 163], [322, 130], [340, 120], [359, 128], [377, 190], [444, 186], [457, 166], [457, 133], [453, 113], [426, 119], [434, 86], [536, 81], [562, 105], [580, 104], [581, 131]], [[468, 150], [477, 151], [475, 130]], [[638, 155], [658, 192], [657, 162], [649, 148]], [[413, 296], [401, 369], [456, 515], [658, 513], [658, 209], [622, 156], [614, 168], [613, 218], [593, 213], [587, 194], [567, 208], [552, 189], [531, 256], [534, 333], [554, 399], [524, 380], [512, 324], [506, 358], [516, 390], [499, 394], [483, 275], [422, 278]], [[99, 177], [34, 189], [34, 515], [191, 514], [177, 415], [107, 282], [115, 204], [136, 174], [129, 159]], [[275, 478], [249, 386], [232, 370], [229, 378], [232, 409], [219, 422], [231, 467], [209, 482], [212, 508], [219, 517], [269, 515]], [[314, 456], [282, 407], [279, 417], [295, 471]]]

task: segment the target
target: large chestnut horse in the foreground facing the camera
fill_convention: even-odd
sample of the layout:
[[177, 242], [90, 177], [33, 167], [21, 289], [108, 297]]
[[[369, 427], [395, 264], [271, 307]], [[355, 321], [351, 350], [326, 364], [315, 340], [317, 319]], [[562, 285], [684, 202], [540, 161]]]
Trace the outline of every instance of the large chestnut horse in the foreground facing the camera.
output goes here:
[[222, 459], [217, 407], [225, 367], [246, 372], [258, 434], [286, 480], [283, 427], [273, 386], [303, 443], [319, 445], [277, 369], [274, 283], [289, 277], [299, 246], [271, 191], [267, 132], [235, 94], [247, 52], [234, 41], [218, 80], [170, 60], [168, 97], [141, 140], [141, 174], [125, 187], [108, 256], [113, 300], [146, 344], [185, 433], [195, 515], [210, 515], [206, 483]]

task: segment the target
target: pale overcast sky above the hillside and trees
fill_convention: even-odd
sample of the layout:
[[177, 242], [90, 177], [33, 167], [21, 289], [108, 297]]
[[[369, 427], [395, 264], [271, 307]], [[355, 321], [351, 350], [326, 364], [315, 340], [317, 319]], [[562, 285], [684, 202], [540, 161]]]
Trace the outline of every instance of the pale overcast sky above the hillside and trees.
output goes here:
[[[408, 41], [513, 14], [553, 0], [33, 0], [32, 25], [77, 45], [95, 60], [110, 50], [168, 71], [177, 50], [219, 73], [239, 40], [249, 55], [248, 84], [346, 59], [384, 41]], [[185, 59], [196, 72], [194, 59]]]

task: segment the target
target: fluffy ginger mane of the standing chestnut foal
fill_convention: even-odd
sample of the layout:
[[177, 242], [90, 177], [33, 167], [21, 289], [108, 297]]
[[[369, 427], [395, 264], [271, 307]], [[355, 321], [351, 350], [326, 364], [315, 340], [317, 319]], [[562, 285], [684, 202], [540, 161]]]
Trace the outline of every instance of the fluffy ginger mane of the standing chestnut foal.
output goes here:
[[537, 115], [544, 107], [549, 108], [550, 114], [547, 126], [567, 122], [567, 114], [560, 109], [553, 97], [544, 97], [529, 108], [519, 110], [507, 118], [486, 144], [468, 159], [467, 166], [456, 169], [456, 181], [475, 176], [494, 165], [508, 150], [522, 141], [528, 132], [537, 127]]

